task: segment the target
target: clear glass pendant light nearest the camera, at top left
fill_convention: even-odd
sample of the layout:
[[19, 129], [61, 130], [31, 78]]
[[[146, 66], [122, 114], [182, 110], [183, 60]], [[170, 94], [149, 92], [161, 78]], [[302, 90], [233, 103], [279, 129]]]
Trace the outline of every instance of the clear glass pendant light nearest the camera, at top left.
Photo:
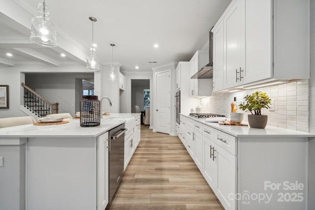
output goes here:
[[49, 9], [43, 3], [38, 4], [38, 15], [32, 18], [32, 29], [30, 39], [45, 47], [56, 47], [56, 29], [50, 22]]

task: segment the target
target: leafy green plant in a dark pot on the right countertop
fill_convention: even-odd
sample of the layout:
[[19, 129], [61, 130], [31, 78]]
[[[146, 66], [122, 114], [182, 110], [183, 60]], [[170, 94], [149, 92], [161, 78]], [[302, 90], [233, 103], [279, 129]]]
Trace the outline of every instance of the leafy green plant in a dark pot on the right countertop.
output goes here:
[[256, 91], [252, 95], [246, 95], [244, 97], [246, 104], [240, 104], [239, 107], [245, 112], [251, 112], [252, 115], [248, 115], [248, 122], [253, 128], [265, 128], [268, 120], [267, 115], [261, 115], [261, 109], [270, 108], [271, 99], [265, 92]]

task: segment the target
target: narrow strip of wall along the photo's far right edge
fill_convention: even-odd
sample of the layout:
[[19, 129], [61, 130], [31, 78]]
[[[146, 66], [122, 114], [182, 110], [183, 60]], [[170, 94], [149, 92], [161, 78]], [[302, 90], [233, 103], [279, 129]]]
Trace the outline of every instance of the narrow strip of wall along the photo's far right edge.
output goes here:
[[[315, 133], [315, 0], [311, 0], [310, 132]], [[309, 143], [309, 210], [315, 209], [315, 138]]]

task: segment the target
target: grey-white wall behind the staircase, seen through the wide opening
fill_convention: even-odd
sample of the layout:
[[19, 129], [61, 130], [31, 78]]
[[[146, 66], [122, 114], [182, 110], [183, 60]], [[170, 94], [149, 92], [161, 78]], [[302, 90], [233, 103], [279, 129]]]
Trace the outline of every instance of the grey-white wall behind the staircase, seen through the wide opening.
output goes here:
[[[79, 99], [75, 98], [75, 80], [93, 79], [94, 73], [35, 73], [27, 74], [25, 83], [51, 103], [59, 103], [59, 113], [74, 116]], [[82, 95], [82, 92], [81, 92]], [[80, 106], [77, 106], [78, 108]]]

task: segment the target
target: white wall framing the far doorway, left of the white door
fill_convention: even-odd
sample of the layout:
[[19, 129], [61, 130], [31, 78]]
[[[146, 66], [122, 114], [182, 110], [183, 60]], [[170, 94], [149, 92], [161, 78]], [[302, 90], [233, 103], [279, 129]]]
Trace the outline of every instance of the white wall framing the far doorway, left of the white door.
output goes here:
[[[120, 93], [121, 113], [131, 113], [131, 80], [132, 79], [149, 79], [150, 80], [150, 106], [152, 104], [153, 74], [152, 72], [123, 72], [126, 76], [125, 91]], [[123, 92], [123, 93], [122, 93]], [[153, 127], [153, 111], [150, 109], [150, 128]]]

